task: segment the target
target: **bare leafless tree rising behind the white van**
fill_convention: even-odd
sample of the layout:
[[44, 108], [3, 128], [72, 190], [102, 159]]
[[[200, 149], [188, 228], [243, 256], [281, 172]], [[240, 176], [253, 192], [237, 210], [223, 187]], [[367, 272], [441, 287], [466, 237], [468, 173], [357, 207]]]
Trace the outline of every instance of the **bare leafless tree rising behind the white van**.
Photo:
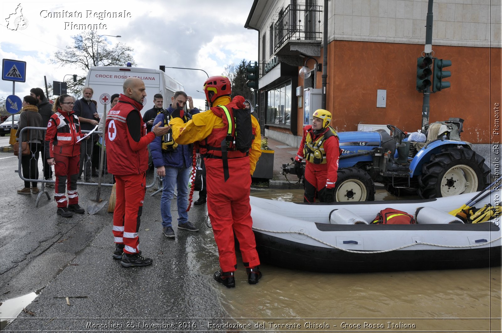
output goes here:
[[[71, 66], [85, 72], [89, 70], [89, 67], [98, 66], [98, 64], [101, 64], [101, 66], [126, 66], [130, 62], [131, 65], [136, 65], [131, 55], [131, 52], [134, 51], [133, 48], [122, 43], [117, 43], [113, 48], [108, 48], [106, 37], [99, 38], [96, 31], [86, 31], [71, 38], [73, 39], [73, 45], [66, 46], [65, 51], [54, 53], [54, 58], [51, 59], [53, 64]], [[73, 82], [73, 79], [70, 78], [66, 80], [66, 83], [68, 91], [80, 96], [80, 90], [85, 83], [85, 76], [77, 78], [77, 82]]]

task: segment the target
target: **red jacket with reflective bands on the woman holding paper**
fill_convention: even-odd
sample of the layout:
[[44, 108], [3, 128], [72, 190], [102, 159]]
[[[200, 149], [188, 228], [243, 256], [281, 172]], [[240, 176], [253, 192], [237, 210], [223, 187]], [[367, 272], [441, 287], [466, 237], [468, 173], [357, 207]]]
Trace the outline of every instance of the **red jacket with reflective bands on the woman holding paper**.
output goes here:
[[[56, 137], [54, 138], [53, 145], [60, 147], [59, 149], [54, 147], [54, 152], [63, 155], [73, 155], [73, 146], [75, 144], [80, 145], [80, 142], [77, 143], [77, 141], [82, 137], [78, 116], [71, 113], [66, 118], [60, 112], [56, 112], [51, 116], [51, 119], [56, 123]], [[52, 122], [49, 121], [49, 124], [52, 124]]]

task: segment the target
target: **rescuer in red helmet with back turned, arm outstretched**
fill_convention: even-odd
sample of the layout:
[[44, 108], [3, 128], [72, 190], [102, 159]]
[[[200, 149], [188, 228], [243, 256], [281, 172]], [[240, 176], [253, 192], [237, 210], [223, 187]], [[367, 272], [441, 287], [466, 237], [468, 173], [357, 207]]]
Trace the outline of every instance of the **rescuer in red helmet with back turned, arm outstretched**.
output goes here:
[[207, 211], [221, 268], [213, 278], [228, 288], [235, 287], [235, 235], [246, 267], [247, 282], [256, 284], [262, 273], [252, 230], [249, 192], [251, 175], [261, 155], [260, 124], [247, 110], [242, 110], [242, 96], [230, 99], [231, 85], [226, 77], [208, 78], [204, 92], [210, 110], [195, 114], [184, 123], [183, 110], [177, 108], [171, 114], [173, 136], [179, 144], [198, 142], [204, 156]]

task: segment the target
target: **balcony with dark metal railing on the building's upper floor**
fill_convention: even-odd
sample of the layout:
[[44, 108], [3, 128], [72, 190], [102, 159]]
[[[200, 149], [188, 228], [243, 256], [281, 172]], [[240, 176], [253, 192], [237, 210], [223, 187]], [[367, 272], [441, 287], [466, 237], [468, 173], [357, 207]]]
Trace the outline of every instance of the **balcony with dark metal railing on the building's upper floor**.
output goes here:
[[322, 6], [313, 5], [289, 5], [279, 11], [274, 24], [274, 51], [290, 39], [321, 40], [321, 13]]

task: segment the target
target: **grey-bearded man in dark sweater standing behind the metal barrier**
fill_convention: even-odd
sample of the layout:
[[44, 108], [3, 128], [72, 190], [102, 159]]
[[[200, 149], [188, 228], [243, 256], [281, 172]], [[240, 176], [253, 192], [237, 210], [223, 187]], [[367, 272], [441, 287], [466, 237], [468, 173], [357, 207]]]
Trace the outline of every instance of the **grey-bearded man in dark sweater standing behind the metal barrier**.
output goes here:
[[[78, 121], [80, 121], [80, 126], [82, 130], [90, 131], [99, 123], [99, 115], [96, 110], [96, 106], [91, 102], [92, 94], [94, 91], [91, 87], [84, 87], [82, 89], [83, 97], [78, 101], [75, 101], [73, 106], [73, 112], [78, 116]], [[92, 158], [92, 147], [97, 141], [97, 136], [91, 134], [87, 140], [82, 140], [80, 142], [80, 171], [78, 177], [82, 176], [84, 173], [84, 182], [91, 182], [91, 158]], [[95, 170], [97, 165], [92, 165]], [[95, 171], [97, 175], [97, 171]]]

